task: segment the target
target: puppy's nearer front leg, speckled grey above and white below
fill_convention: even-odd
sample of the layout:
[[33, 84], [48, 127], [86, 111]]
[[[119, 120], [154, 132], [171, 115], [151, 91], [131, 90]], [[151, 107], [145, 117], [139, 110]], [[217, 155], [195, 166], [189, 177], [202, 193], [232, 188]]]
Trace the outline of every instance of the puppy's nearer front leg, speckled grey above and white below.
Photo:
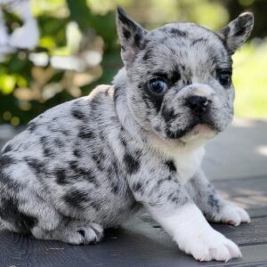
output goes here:
[[175, 177], [144, 180], [136, 176], [128, 180], [134, 197], [183, 251], [199, 261], [228, 261], [241, 255], [237, 245], [206, 222]]

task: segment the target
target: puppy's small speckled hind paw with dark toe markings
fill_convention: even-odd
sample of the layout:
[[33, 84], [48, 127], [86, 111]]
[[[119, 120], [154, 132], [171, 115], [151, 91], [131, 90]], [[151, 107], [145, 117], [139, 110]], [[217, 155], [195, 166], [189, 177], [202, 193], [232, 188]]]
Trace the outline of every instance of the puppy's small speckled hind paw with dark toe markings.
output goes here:
[[70, 244], [95, 244], [103, 238], [103, 229], [97, 223], [72, 223], [64, 240]]

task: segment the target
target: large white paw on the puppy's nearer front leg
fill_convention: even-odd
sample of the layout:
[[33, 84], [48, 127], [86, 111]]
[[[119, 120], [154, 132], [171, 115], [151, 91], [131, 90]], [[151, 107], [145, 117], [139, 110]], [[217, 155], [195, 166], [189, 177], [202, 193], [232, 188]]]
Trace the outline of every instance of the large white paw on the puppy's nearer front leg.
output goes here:
[[228, 262], [231, 258], [242, 256], [235, 243], [212, 228], [209, 231], [200, 232], [186, 240], [184, 244], [179, 244], [179, 247], [200, 262], [212, 260]]

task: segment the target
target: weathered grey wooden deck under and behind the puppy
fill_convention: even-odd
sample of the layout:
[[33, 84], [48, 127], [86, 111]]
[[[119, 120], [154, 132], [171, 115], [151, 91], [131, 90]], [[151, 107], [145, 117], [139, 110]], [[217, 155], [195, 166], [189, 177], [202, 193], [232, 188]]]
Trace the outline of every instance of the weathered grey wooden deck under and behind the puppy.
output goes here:
[[[245, 207], [252, 217], [250, 224], [238, 227], [212, 225], [239, 245], [242, 259], [228, 263], [198, 263], [179, 251], [158, 224], [143, 215], [124, 227], [106, 231], [104, 241], [93, 246], [71, 246], [0, 231], [0, 267], [267, 266], [266, 130], [267, 123], [260, 133], [258, 125], [244, 129], [232, 127], [229, 134], [211, 144], [206, 157], [206, 172], [213, 175], [215, 187], [224, 198]], [[241, 135], [233, 136], [237, 133]], [[227, 145], [231, 142], [231, 146]], [[255, 153], [257, 150], [263, 153]], [[215, 173], [214, 166], [220, 166], [220, 161], [225, 167]]]

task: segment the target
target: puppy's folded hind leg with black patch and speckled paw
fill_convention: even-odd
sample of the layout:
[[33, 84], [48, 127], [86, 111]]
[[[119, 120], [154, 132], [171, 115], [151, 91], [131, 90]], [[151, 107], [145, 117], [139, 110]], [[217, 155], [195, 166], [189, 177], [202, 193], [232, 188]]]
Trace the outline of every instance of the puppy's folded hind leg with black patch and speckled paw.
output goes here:
[[36, 239], [70, 244], [96, 243], [103, 236], [101, 225], [67, 218], [29, 190], [21, 190], [17, 196], [2, 191], [0, 222], [11, 231], [32, 234]]

